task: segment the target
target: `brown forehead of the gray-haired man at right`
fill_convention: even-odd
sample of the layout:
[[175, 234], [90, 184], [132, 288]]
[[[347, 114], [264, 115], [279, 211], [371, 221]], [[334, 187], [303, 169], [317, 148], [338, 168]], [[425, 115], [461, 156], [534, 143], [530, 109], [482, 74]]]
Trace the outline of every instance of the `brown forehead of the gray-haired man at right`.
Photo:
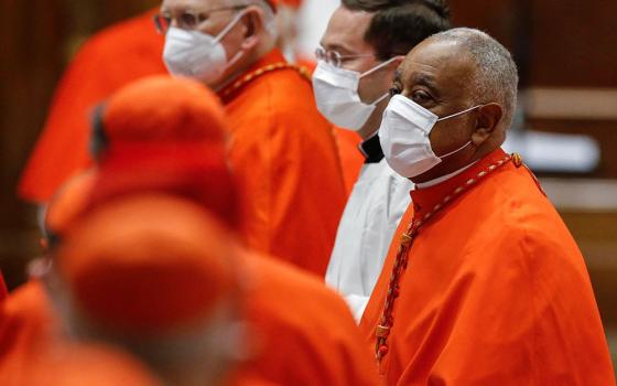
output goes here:
[[404, 85], [431, 78], [442, 89], [464, 89], [474, 77], [475, 66], [456, 42], [426, 40], [416, 45], [399, 67]]

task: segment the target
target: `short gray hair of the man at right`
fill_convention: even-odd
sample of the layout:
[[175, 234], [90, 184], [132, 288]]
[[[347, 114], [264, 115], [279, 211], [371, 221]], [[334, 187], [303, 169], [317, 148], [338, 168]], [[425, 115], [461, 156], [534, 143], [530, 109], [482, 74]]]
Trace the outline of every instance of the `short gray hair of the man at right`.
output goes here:
[[470, 84], [474, 101], [501, 105], [501, 125], [509, 128], [517, 106], [519, 83], [517, 65], [510, 52], [487, 33], [469, 28], [447, 30], [429, 39], [454, 42], [463, 47], [477, 69]]

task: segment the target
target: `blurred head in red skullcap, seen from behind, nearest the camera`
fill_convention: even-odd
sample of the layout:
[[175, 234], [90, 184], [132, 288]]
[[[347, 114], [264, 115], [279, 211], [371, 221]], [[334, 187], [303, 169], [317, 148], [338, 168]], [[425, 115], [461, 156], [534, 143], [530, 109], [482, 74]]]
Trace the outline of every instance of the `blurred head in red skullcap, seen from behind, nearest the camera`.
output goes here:
[[149, 193], [96, 205], [46, 279], [73, 336], [142, 358], [169, 385], [223, 385], [243, 358], [229, 235], [197, 204]]

